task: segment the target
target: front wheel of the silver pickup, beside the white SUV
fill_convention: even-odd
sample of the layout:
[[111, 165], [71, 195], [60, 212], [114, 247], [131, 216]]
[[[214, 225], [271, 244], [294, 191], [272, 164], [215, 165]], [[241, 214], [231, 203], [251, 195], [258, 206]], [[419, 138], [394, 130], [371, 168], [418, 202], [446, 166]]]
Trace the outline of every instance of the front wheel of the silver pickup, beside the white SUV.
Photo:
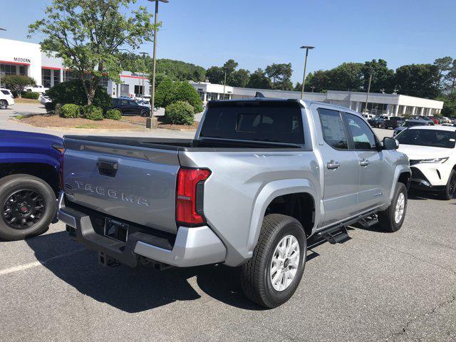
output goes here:
[[390, 206], [378, 214], [378, 222], [385, 232], [397, 232], [405, 219], [407, 211], [407, 188], [403, 183], [396, 184]]

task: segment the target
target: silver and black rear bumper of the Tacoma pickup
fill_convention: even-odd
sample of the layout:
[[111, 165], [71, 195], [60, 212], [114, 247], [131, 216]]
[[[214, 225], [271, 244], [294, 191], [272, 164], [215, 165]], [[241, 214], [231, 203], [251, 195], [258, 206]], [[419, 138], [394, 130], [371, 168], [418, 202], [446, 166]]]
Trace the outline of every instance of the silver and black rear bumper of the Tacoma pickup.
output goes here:
[[58, 207], [58, 219], [70, 227], [73, 239], [128, 266], [137, 266], [140, 257], [178, 267], [216, 264], [225, 259], [224, 244], [207, 226], [179, 227], [174, 246], [165, 249], [157, 246], [152, 235], [142, 232], [129, 234], [126, 243], [98, 234], [87, 214], [65, 207], [63, 192]]

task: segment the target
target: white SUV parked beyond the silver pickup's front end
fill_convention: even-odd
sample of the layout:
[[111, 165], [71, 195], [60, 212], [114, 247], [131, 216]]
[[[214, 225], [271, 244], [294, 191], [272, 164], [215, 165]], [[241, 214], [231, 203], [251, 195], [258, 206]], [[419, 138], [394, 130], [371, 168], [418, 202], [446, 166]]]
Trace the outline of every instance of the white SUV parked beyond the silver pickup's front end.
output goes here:
[[456, 128], [414, 126], [395, 138], [400, 143], [398, 151], [410, 160], [410, 187], [452, 199], [456, 189]]

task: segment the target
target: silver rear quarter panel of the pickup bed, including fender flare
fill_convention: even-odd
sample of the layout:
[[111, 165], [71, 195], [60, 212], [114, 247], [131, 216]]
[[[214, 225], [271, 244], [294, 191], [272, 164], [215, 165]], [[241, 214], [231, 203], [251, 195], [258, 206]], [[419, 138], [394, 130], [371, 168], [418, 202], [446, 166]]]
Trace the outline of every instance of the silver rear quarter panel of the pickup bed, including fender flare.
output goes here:
[[308, 192], [316, 200], [320, 176], [314, 152], [304, 149], [180, 152], [187, 167], [207, 167], [204, 215], [227, 247], [229, 266], [252, 257], [266, 207], [277, 196]]

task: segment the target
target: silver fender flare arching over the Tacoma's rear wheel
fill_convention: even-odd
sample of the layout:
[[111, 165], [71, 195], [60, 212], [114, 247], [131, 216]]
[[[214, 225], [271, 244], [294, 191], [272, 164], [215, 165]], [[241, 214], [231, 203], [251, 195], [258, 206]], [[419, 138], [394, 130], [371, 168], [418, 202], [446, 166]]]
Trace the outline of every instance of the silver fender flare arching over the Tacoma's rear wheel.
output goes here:
[[247, 242], [248, 257], [252, 257], [254, 248], [257, 245], [266, 208], [276, 197], [301, 192], [311, 195], [314, 199], [315, 207], [314, 229], [320, 218], [320, 206], [318, 205], [318, 198], [320, 198], [320, 196], [317, 192], [319, 191], [318, 189], [319, 188], [308, 179], [275, 180], [264, 185], [255, 198], [252, 209], [252, 219], [250, 220], [249, 227], [249, 240]]

